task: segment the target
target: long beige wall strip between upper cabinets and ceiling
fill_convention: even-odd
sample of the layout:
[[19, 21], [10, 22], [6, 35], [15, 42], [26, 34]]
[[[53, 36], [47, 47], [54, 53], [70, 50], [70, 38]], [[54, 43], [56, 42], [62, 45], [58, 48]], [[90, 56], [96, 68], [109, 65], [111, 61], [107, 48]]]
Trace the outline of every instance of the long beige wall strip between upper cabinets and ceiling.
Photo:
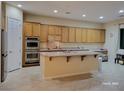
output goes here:
[[52, 24], [52, 25], [63, 25], [63, 26], [73, 26], [73, 27], [85, 27], [85, 28], [103, 28], [102, 24], [94, 23], [94, 22], [37, 16], [32, 14], [25, 14], [24, 20], [31, 22], [39, 22], [41, 24]]

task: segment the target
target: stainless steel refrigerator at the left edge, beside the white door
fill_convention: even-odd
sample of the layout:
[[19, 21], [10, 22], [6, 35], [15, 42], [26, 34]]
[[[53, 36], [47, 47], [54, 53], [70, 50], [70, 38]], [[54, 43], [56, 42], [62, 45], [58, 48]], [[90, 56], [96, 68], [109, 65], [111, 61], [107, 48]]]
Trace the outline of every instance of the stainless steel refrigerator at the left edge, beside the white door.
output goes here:
[[7, 77], [7, 32], [1, 31], [1, 82]]

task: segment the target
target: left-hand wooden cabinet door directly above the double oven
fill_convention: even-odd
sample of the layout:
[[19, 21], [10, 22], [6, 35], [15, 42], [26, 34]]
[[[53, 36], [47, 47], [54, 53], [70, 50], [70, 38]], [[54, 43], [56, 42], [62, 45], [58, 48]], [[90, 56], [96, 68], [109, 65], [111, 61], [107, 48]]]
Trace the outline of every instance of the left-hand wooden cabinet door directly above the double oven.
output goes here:
[[32, 23], [24, 23], [24, 34], [25, 36], [32, 36]]

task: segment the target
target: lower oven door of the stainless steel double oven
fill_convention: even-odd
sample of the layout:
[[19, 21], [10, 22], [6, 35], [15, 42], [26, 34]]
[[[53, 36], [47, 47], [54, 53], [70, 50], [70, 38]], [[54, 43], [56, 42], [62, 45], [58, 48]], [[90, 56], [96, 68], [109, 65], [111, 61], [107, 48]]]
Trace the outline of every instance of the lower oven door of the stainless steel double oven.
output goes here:
[[40, 56], [38, 52], [26, 52], [26, 64], [39, 63]]

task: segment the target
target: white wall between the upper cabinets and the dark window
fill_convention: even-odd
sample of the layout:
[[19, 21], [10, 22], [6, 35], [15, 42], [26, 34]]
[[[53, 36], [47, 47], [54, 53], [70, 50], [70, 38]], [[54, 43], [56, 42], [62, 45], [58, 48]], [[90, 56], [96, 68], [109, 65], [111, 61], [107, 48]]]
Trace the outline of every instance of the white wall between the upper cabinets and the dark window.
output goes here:
[[119, 49], [119, 24], [124, 23], [124, 18], [115, 20], [104, 25], [106, 40], [104, 48], [108, 49], [109, 61], [114, 62], [116, 52]]

